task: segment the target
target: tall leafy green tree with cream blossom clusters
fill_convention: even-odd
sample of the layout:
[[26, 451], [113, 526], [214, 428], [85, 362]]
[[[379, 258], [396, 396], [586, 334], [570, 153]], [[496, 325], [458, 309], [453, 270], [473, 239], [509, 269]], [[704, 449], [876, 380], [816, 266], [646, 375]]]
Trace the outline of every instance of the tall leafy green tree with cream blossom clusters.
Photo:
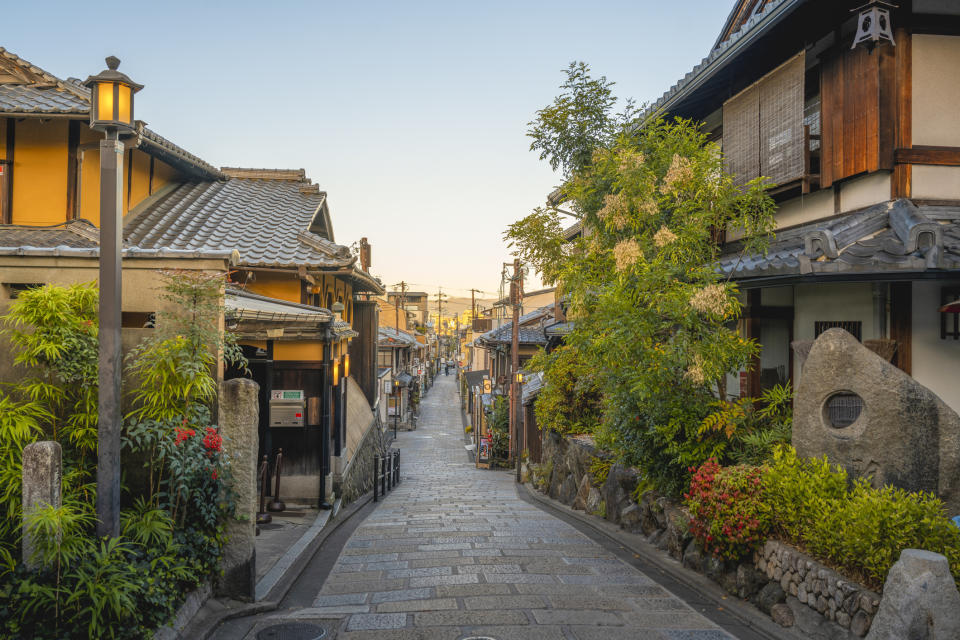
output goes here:
[[715, 230], [739, 229], [744, 252], [763, 251], [774, 204], [762, 180], [734, 184], [696, 124], [613, 114], [610, 83], [585, 65], [571, 65], [563, 88], [529, 133], [532, 148], [563, 168], [564, 206], [584, 234], [565, 242], [549, 209], [505, 233], [516, 255], [558, 283], [575, 322], [569, 351], [544, 367], [538, 408], [556, 411], [570, 384], [551, 376], [552, 364], [589, 372], [602, 389], [586, 421], [598, 424], [598, 444], [679, 495], [688, 468], [732, 455], [731, 434], [701, 425], [726, 397], [726, 374], [758, 352], [735, 329], [738, 291], [718, 275]]

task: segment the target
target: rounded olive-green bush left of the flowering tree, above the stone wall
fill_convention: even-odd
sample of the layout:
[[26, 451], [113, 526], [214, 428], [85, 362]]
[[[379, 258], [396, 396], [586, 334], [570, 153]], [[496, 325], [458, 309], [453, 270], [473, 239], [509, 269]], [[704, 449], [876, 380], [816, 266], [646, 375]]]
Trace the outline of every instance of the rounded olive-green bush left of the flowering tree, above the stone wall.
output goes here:
[[534, 404], [541, 428], [562, 434], [593, 432], [602, 393], [598, 377], [587, 365], [576, 349], [566, 346], [550, 353], [541, 350], [531, 358], [528, 366], [542, 371], [545, 379]]

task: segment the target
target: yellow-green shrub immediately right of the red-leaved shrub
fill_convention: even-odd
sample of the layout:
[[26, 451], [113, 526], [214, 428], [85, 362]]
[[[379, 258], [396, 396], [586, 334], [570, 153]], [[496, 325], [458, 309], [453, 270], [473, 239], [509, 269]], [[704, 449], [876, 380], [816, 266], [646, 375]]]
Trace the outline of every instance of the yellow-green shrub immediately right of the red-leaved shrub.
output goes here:
[[777, 447], [763, 479], [775, 530], [802, 543], [811, 528], [847, 494], [847, 472], [831, 467], [826, 457], [799, 458], [793, 447]]

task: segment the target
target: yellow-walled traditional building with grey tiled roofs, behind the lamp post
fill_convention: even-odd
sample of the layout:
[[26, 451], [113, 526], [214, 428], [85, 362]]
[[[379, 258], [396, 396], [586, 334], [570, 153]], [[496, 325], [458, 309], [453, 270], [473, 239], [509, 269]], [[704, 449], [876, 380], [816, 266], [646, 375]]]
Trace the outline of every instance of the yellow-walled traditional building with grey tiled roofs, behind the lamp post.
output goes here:
[[[25, 286], [97, 278], [102, 134], [89, 109], [79, 81], [0, 48], [0, 306]], [[376, 306], [358, 299], [383, 293], [369, 261], [335, 243], [327, 194], [302, 169], [217, 169], [142, 122], [123, 142], [125, 341], [163, 304], [157, 269], [229, 273], [224, 320], [260, 383], [261, 455], [284, 449], [287, 497], [327, 499], [347, 372], [371, 402], [376, 389]], [[275, 402], [292, 396], [299, 416]]]

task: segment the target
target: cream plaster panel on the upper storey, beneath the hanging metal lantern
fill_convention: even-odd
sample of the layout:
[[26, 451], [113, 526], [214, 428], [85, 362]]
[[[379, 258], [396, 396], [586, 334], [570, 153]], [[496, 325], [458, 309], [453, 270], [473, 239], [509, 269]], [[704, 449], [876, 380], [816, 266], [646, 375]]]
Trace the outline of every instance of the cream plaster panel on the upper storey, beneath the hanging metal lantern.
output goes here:
[[960, 146], [957, 105], [960, 36], [914, 35], [913, 144]]

